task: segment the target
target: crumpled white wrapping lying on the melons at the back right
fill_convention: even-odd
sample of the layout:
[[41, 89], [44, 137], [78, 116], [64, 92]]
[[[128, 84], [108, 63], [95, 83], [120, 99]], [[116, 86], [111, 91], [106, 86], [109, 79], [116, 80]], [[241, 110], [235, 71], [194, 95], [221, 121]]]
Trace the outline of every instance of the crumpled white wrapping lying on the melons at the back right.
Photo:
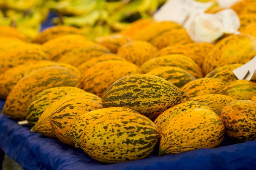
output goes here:
[[223, 34], [239, 34], [240, 20], [232, 9], [216, 14], [198, 11], [192, 14], [184, 27], [195, 42], [214, 42]]

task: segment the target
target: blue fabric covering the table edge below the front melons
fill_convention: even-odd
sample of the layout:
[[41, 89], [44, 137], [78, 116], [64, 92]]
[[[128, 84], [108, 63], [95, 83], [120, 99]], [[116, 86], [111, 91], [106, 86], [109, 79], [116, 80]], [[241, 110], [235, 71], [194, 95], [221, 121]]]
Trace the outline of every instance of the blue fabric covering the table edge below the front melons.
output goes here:
[[[0, 110], [4, 101], [0, 100]], [[230, 144], [228, 140], [222, 146]], [[198, 149], [176, 155], [157, 156], [157, 148], [147, 159], [119, 164], [103, 164], [82, 150], [30, 132], [0, 114], [0, 149], [25, 170], [254, 170], [256, 141], [215, 149]]]

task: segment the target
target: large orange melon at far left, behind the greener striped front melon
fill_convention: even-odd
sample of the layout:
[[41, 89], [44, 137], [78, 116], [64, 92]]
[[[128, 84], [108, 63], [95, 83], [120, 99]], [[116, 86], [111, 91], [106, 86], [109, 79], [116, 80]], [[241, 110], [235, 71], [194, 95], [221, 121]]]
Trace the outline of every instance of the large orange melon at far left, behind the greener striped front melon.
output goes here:
[[33, 71], [23, 77], [7, 96], [3, 107], [3, 115], [13, 119], [25, 120], [29, 102], [47, 88], [76, 86], [78, 78], [66, 68], [45, 67]]

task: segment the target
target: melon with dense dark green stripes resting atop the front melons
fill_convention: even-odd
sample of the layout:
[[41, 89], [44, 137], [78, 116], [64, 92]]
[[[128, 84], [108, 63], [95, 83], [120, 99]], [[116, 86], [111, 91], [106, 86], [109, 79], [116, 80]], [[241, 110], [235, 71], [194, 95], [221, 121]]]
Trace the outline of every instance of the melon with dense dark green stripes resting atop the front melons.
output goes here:
[[114, 82], [102, 98], [104, 108], [125, 107], [154, 120], [183, 101], [186, 94], [167, 80], [150, 74], [133, 74]]

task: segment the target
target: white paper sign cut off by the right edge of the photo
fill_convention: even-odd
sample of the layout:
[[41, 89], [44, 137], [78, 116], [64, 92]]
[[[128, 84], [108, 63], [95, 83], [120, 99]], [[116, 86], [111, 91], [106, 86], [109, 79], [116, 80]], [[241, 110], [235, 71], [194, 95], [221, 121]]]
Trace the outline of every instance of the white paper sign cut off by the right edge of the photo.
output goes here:
[[255, 80], [256, 79], [256, 57], [242, 65], [236, 70], [233, 70], [235, 76], [239, 79]]

